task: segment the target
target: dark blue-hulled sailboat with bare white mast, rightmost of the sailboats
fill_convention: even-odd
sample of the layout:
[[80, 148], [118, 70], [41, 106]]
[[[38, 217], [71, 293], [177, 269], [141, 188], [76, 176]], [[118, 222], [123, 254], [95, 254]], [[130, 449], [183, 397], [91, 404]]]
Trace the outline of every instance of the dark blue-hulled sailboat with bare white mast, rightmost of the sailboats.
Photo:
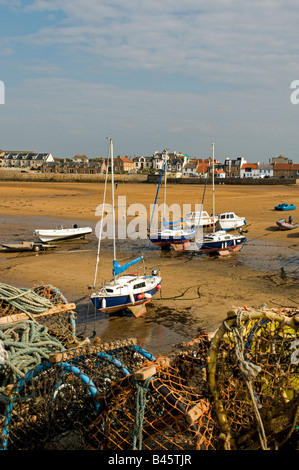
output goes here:
[[[212, 143], [212, 183], [213, 183], [213, 214], [215, 214], [215, 175], [214, 175], [214, 143]], [[218, 253], [219, 255], [229, 254], [231, 251], [239, 250], [239, 246], [246, 242], [242, 234], [230, 234], [225, 230], [216, 230], [213, 221], [213, 232], [206, 235], [198, 231], [195, 242], [187, 249], [195, 249], [202, 253]]]

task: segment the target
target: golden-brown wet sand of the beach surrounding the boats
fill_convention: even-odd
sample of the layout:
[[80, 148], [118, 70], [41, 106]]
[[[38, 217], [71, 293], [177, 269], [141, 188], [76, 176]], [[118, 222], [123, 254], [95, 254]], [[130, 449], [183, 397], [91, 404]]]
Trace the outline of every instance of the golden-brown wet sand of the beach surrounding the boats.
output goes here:
[[[35, 229], [57, 225], [79, 223], [94, 229], [103, 189], [104, 184], [95, 183], [0, 182], [0, 242], [32, 241]], [[156, 190], [155, 185], [127, 183], [118, 185], [116, 195], [126, 196], [127, 206], [144, 204], [149, 220]], [[203, 186], [169, 185], [167, 203], [200, 204], [202, 194]], [[107, 202], [109, 197], [107, 193]], [[162, 193], [160, 203], [161, 198]], [[144, 266], [160, 268], [163, 277], [161, 296], [157, 294], [138, 319], [96, 314], [89, 302], [98, 244], [95, 233], [86, 240], [60, 243], [55, 251], [0, 253], [0, 282], [25, 288], [52, 284], [76, 303], [78, 335], [96, 335], [104, 341], [136, 337], [153, 354], [194, 338], [201, 329], [214, 331], [232, 306], [298, 306], [299, 229], [283, 232], [276, 227], [276, 220], [290, 214], [299, 222], [298, 209], [274, 211], [281, 202], [299, 207], [298, 185], [216, 185], [215, 201], [216, 213], [234, 211], [248, 222], [247, 243], [237, 254], [192, 256], [163, 252], [147, 240], [119, 242], [119, 261], [141, 253]], [[204, 209], [212, 212], [211, 187]], [[98, 282], [111, 278], [112, 247], [107, 240], [101, 253]]]

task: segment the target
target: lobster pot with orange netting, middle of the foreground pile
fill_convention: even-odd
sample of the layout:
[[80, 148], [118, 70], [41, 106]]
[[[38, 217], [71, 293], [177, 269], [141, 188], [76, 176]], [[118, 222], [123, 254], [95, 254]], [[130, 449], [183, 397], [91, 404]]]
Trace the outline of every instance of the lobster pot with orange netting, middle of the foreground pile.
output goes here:
[[99, 416], [90, 427], [92, 447], [177, 451], [217, 448], [215, 421], [207, 397], [206, 354], [203, 342], [193, 341], [114, 383], [102, 398]]

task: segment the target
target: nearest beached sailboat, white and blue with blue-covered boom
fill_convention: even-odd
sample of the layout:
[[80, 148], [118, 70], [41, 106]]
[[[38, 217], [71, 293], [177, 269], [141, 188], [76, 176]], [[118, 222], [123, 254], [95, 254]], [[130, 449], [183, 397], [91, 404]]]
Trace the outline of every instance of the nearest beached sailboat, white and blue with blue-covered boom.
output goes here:
[[[114, 205], [114, 170], [113, 170], [113, 141], [110, 139], [109, 153], [111, 160], [111, 185], [112, 185], [112, 239], [113, 239], [113, 279], [104, 286], [96, 290], [96, 278], [100, 254], [101, 233], [99, 234], [97, 263], [94, 277], [94, 292], [90, 298], [95, 307], [103, 313], [115, 313], [125, 309], [139, 317], [146, 312], [146, 303], [150, 302], [153, 295], [161, 289], [160, 273], [153, 269], [151, 275], [138, 275], [138, 272], [124, 274], [123, 272], [142, 260], [142, 256], [121, 265], [116, 259], [116, 238], [115, 238], [115, 205]], [[107, 178], [107, 177], [106, 177]], [[104, 196], [105, 203], [105, 196]], [[104, 211], [104, 204], [103, 204]], [[102, 221], [103, 221], [102, 213]], [[102, 225], [102, 224], [101, 224]], [[102, 232], [102, 226], [101, 231]]]

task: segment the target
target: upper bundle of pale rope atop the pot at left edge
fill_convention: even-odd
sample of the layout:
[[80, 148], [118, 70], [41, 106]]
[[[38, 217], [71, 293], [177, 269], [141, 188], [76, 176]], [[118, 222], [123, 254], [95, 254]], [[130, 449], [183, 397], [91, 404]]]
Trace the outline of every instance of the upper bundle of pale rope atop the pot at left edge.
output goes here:
[[0, 300], [5, 300], [22, 312], [33, 314], [43, 313], [54, 306], [49, 299], [39, 296], [31, 289], [18, 289], [2, 282]]

